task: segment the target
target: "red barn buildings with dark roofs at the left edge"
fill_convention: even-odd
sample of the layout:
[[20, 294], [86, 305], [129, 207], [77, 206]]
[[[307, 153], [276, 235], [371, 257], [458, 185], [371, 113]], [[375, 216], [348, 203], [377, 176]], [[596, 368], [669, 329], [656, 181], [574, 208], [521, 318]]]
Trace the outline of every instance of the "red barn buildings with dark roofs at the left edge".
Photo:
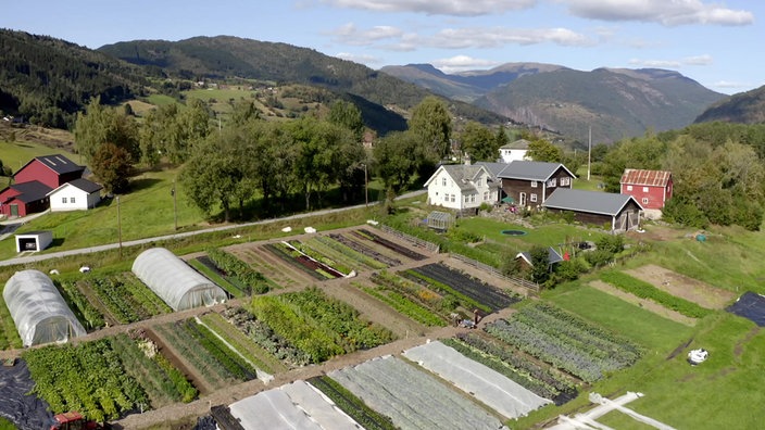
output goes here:
[[85, 167], [63, 155], [37, 156], [13, 174], [13, 185], [0, 190], [0, 214], [26, 216], [48, 208], [48, 193], [79, 179]]

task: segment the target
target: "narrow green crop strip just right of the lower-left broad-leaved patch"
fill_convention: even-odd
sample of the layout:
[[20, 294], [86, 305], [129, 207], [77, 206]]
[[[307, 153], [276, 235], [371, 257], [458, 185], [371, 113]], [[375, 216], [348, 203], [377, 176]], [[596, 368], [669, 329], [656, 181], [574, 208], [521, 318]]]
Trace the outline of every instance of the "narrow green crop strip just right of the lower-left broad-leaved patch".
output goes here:
[[149, 395], [152, 407], [159, 408], [173, 402], [188, 403], [197, 397], [197, 389], [156, 351], [156, 345], [151, 340], [133, 340], [121, 333], [112, 339], [112, 346], [117, 351], [125, 371]]

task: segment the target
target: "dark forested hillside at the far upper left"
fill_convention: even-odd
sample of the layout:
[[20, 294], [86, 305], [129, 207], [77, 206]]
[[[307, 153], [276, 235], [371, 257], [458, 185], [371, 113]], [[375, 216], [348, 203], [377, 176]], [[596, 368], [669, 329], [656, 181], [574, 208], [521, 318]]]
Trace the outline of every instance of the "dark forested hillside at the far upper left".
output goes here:
[[67, 128], [92, 97], [104, 103], [142, 92], [148, 72], [47, 36], [0, 29], [0, 111]]

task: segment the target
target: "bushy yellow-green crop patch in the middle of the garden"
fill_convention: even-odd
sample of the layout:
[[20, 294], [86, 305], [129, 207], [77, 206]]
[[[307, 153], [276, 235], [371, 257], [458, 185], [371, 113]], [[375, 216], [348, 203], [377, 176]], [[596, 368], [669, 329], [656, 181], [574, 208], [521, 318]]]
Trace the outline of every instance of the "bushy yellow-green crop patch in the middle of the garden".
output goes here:
[[312, 363], [393, 340], [390, 330], [361, 319], [355, 308], [315, 287], [258, 296], [251, 306], [258, 319], [306, 353]]

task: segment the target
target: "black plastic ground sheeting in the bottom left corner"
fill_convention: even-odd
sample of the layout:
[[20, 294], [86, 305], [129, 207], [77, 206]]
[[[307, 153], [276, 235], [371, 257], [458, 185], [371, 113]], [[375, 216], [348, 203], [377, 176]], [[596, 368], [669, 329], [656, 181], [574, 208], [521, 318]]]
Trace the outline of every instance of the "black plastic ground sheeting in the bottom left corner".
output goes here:
[[29, 394], [34, 387], [24, 361], [16, 361], [14, 366], [0, 366], [0, 416], [22, 430], [47, 429], [53, 422], [48, 404]]

